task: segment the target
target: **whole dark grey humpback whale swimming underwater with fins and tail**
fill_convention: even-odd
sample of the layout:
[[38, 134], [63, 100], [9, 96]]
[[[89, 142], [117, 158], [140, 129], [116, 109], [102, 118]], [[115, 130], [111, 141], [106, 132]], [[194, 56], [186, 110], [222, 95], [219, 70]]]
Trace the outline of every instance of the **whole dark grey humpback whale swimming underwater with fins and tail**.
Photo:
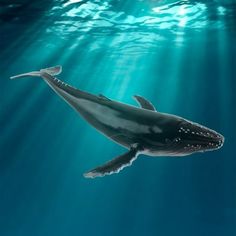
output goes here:
[[224, 137], [216, 131], [182, 117], [161, 113], [147, 99], [135, 95], [139, 107], [76, 89], [55, 76], [61, 66], [12, 76], [41, 77], [90, 125], [128, 151], [84, 174], [94, 178], [118, 173], [139, 154], [148, 156], [186, 156], [219, 149]]

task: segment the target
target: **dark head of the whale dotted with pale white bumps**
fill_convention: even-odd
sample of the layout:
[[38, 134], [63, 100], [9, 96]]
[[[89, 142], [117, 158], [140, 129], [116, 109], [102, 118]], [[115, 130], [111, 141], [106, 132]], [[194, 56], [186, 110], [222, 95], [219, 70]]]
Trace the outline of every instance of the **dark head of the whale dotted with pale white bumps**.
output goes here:
[[214, 130], [187, 120], [178, 122], [172, 140], [168, 140], [168, 149], [175, 155], [189, 155], [219, 149], [224, 137]]

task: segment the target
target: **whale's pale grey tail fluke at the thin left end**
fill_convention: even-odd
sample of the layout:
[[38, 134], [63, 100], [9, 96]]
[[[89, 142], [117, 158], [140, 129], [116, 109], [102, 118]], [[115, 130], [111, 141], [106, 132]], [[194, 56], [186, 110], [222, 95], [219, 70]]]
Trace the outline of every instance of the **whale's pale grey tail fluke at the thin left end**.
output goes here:
[[53, 66], [53, 67], [49, 67], [46, 69], [41, 69], [40, 71], [31, 71], [28, 73], [23, 73], [23, 74], [19, 74], [19, 75], [15, 75], [10, 77], [10, 79], [19, 79], [19, 78], [24, 78], [24, 77], [41, 77], [41, 73], [42, 72], [46, 72], [47, 74], [51, 75], [51, 76], [55, 76], [55, 75], [59, 75], [62, 72], [62, 67], [61, 66]]

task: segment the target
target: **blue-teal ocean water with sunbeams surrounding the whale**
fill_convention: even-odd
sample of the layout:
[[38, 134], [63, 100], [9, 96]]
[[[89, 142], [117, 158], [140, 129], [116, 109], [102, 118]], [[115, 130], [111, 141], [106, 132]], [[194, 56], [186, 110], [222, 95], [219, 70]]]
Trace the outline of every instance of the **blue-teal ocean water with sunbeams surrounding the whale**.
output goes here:
[[[235, 42], [234, 0], [1, 0], [0, 236], [235, 236]], [[125, 150], [42, 80], [8, 79], [57, 64], [75, 87], [142, 95], [225, 145], [85, 179]]]

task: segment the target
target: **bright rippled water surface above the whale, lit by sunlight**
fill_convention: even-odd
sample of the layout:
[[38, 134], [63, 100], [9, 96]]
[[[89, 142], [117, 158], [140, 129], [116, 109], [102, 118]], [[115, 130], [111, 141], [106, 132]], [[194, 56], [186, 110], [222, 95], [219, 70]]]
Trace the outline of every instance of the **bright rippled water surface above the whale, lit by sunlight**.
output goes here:
[[[35, 23], [34, 32], [70, 39], [69, 49], [90, 37], [90, 42], [96, 40], [91, 50], [109, 44], [114, 53], [124, 47], [139, 53], [166, 40], [182, 45], [196, 32], [230, 29], [235, 34], [236, 29], [234, 0], [15, 0], [11, 4], [2, 1], [0, 6], [0, 22], [22, 28]], [[7, 30], [6, 37], [15, 34]]]

